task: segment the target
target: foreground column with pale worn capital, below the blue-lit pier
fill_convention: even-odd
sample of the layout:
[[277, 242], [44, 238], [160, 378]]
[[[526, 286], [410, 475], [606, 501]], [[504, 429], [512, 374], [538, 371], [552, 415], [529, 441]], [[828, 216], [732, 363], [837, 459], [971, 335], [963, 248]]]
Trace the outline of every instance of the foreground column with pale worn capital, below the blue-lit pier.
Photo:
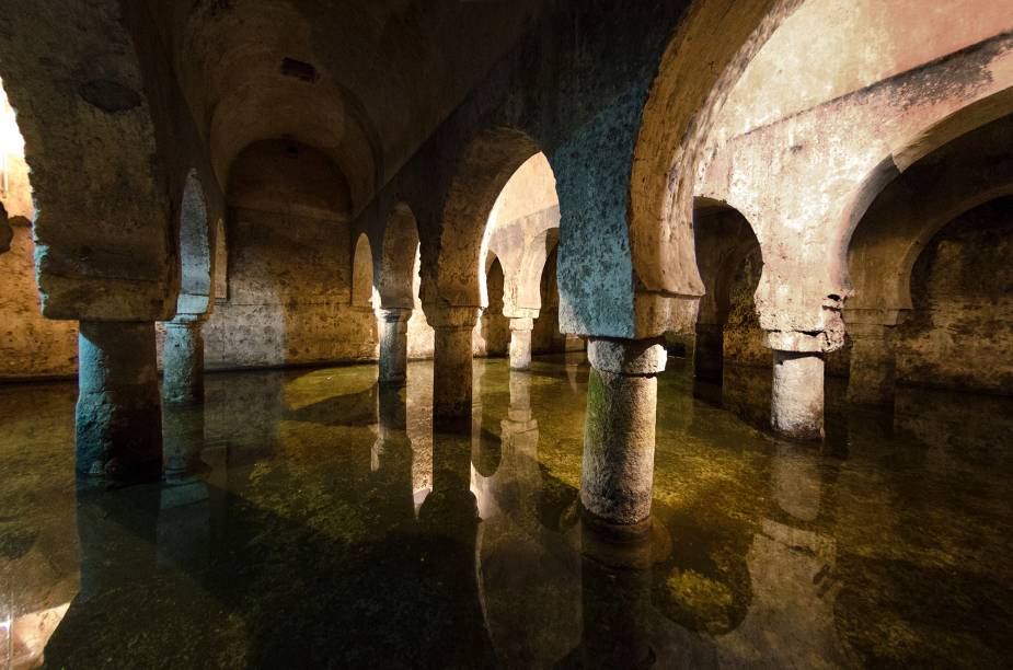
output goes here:
[[591, 338], [580, 501], [620, 524], [651, 515], [657, 374], [667, 355], [660, 338]]

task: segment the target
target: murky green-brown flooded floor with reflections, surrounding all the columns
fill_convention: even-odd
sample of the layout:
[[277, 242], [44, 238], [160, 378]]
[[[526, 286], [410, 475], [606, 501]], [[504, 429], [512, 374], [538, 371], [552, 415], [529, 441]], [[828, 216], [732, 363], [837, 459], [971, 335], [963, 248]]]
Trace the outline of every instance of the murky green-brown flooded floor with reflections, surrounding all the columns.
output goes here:
[[769, 370], [726, 370], [733, 413], [674, 360], [637, 541], [579, 521], [578, 360], [476, 360], [472, 425], [435, 434], [429, 363], [394, 396], [370, 366], [212, 374], [203, 412], [165, 408], [200, 476], [111, 492], [76, 490], [73, 384], [0, 389], [2, 660], [1009, 662], [1010, 400], [901, 390], [894, 416], [844, 413], [829, 384], [827, 441], [792, 444], [748, 423]]

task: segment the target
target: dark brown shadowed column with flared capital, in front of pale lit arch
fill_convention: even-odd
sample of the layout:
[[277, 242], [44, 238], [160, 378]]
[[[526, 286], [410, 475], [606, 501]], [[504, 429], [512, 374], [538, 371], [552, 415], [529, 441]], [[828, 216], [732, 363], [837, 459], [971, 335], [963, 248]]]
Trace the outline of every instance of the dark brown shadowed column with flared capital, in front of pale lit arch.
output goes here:
[[471, 417], [471, 336], [477, 308], [444, 308], [433, 315], [433, 416]]

